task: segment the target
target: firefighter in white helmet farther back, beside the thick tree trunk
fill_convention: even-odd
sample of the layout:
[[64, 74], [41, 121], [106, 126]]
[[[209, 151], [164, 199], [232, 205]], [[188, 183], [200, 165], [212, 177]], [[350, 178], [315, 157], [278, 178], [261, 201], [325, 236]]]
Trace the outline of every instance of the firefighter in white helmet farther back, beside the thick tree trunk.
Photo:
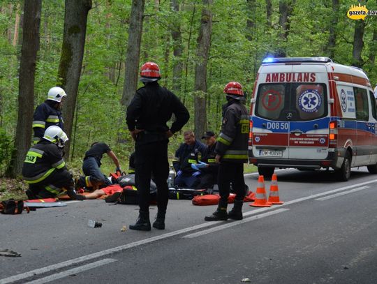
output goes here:
[[34, 144], [42, 139], [45, 130], [50, 126], [59, 126], [64, 130], [61, 108], [65, 96], [67, 94], [64, 89], [52, 87], [47, 93], [47, 100], [36, 107], [33, 117]]

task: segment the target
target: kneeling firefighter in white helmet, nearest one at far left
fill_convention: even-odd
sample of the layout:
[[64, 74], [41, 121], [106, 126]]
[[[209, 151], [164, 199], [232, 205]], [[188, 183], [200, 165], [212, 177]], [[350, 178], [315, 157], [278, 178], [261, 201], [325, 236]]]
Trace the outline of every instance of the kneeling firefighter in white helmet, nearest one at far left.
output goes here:
[[26, 192], [29, 199], [57, 197], [64, 190], [72, 199], [85, 199], [75, 193], [73, 179], [63, 159], [67, 141], [66, 133], [59, 126], [50, 126], [42, 140], [27, 152], [22, 177], [29, 184]]

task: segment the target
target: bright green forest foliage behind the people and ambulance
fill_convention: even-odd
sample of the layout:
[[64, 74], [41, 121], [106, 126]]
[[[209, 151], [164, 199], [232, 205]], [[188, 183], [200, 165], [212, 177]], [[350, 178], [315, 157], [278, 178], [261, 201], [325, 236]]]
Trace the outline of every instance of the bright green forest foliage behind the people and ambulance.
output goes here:
[[[18, 68], [20, 66], [20, 40], [13, 46], [17, 5], [22, 0], [0, 1], [0, 151], [11, 144], [17, 121]], [[161, 84], [172, 88], [172, 70], [177, 62], [183, 64], [182, 88], [176, 91], [191, 113], [191, 119], [184, 127], [193, 129], [195, 62], [202, 1], [179, 0], [179, 12], [172, 11], [170, 1], [147, 0], [142, 33], [140, 65], [145, 61], [156, 61], [162, 71]], [[211, 7], [213, 14], [212, 42], [207, 65], [208, 127], [219, 133], [221, 110], [226, 102], [223, 87], [236, 80], [244, 89], [253, 92], [253, 83], [261, 61], [285, 48], [289, 57], [326, 56], [330, 25], [339, 17], [336, 28], [337, 43], [334, 60], [350, 64], [353, 54], [353, 32], [355, 21], [346, 17], [346, 11], [357, 1], [340, 1], [338, 13], [333, 13], [331, 1], [296, 0], [289, 18], [288, 39], [279, 38], [279, 0], [272, 0], [271, 27], [267, 25], [266, 1], [256, 0], [256, 6], [249, 10], [245, 0], [216, 0]], [[369, 10], [377, 10], [376, 3], [367, 2]], [[133, 141], [128, 133], [125, 112], [120, 100], [124, 87], [124, 61], [126, 59], [131, 0], [94, 1], [89, 11], [87, 38], [82, 64], [82, 74], [77, 97], [77, 109], [73, 124], [70, 167], [80, 169], [81, 160], [91, 142], [103, 141], [121, 160], [122, 168], [128, 167], [128, 156], [133, 151]], [[254, 26], [249, 29], [246, 21]], [[374, 85], [377, 82], [376, 64], [370, 60], [377, 53], [373, 40], [377, 29], [377, 17], [365, 20], [364, 70]], [[173, 56], [178, 43], [172, 40], [172, 29], [181, 31], [182, 56]], [[34, 106], [46, 99], [50, 87], [59, 83], [58, 68], [62, 54], [64, 28], [64, 1], [43, 1], [40, 23], [40, 50], [36, 66]], [[20, 29], [22, 36], [22, 29]], [[250, 40], [251, 38], [251, 40]], [[127, 84], [127, 82], [126, 82]], [[140, 82], [139, 86], [142, 86]], [[68, 94], [69, 96], [70, 94]], [[6, 137], [6, 138], [5, 138]], [[5, 140], [4, 140], [5, 139]], [[183, 142], [182, 133], [172, 137], [169, 156]], [[8, 146], [6, 146], [8, 145]], [[3, 156], [1, 156], [3, 155]], [[4, 156], [5, 155], [5, 156]], [[9, 159], [0, 152], [0, 171]], [[4, 158], [3, 158], [4, 157]], [[1, 168], [2, 167], [2, 168]], [[112, 169], [112, 161], [105, 162], [105, 170]]]

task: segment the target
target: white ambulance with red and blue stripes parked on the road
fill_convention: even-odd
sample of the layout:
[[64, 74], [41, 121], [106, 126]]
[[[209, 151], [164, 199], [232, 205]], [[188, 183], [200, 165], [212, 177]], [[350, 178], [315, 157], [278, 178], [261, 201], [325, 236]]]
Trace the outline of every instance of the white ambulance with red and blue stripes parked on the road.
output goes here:
[[249, 161], [259, 174], [275, 168], [351, 167], [377, 174], [376, 100], [360, 68], [327, 57], [268, 58], [251, 98]]

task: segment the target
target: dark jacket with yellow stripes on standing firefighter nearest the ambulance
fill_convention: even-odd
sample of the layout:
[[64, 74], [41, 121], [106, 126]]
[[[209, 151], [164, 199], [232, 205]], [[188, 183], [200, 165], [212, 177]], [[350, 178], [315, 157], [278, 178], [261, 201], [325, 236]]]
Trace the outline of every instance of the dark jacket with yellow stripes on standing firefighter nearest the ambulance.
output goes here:
[[221, 161], [247, 163], [249, 142], [249, 113], [239, 100], [230, 100], [223, 108], [221, 133], [216, 153]]

